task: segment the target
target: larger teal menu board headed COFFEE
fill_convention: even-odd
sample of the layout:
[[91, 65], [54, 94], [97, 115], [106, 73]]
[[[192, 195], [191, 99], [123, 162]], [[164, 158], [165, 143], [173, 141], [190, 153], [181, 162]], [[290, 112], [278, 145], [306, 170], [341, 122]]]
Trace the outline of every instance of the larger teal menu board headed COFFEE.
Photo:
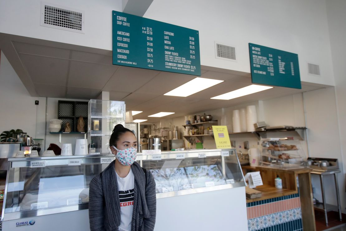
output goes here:
[[113, 64], [201, 75], [198, 30], [112, 11]]

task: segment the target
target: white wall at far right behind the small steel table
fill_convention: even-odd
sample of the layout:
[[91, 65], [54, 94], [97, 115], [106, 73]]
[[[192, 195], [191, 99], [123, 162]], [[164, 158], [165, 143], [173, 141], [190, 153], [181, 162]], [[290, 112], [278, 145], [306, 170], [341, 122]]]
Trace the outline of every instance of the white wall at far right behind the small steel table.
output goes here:
[[[338, 174], [339, 194], [342, 210], [345, 212], [345, 177], [343, 156], [340, 149], [339, 125], [335, 100], [335, 88], [329, 87], [304, 93], [306, 117], [311, 157], [337, 158], [341, 173]], [[319, 177], [312, 175], [312, 185], [316, 188], [314, 196], [321, 201]], [[324, 179], [326, 202], [337, 204], [334, 178]]]

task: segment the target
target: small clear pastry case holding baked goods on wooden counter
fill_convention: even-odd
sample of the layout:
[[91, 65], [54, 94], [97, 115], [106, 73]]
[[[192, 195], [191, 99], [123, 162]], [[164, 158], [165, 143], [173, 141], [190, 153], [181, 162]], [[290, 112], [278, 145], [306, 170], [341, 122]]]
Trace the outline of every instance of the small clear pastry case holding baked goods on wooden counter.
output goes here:
[[300, 141], [287, 138], [262, 139], [259, 151], [262, 166], [295, 168], [306, 159]]

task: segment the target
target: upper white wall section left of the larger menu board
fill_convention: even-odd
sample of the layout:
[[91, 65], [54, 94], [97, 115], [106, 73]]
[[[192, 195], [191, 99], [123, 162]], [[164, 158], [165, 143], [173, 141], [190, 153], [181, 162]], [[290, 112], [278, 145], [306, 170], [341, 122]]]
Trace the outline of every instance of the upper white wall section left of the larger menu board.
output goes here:
[[121, 0], [46, 0], [84, 10], [85, 34], [40, 26], [40, 0], [0, 1], [0, 32], [49, 41], [112, 50], [112, 10], [121, 11]]

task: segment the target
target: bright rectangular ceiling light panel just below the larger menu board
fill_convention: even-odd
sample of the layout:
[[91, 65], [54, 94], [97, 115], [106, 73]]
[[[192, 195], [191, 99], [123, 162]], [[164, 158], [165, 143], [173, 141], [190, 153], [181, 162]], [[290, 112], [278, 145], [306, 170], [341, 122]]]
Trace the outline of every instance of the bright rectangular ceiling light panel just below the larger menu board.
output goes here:
[[170, 92], [167, 92], [164, 94], [165, 96], [181, 96], [186, 97], [192, 94], [195, 94], [196, 92], [202, 91], [204, 89], [210, 88], [214, 85], [217, 85], [220, 82], [223, 82], [224, 80], [217, 80], [217, 79], [206, 79], [206, 78], [195, 78], [180, 87], [177, 87]]

